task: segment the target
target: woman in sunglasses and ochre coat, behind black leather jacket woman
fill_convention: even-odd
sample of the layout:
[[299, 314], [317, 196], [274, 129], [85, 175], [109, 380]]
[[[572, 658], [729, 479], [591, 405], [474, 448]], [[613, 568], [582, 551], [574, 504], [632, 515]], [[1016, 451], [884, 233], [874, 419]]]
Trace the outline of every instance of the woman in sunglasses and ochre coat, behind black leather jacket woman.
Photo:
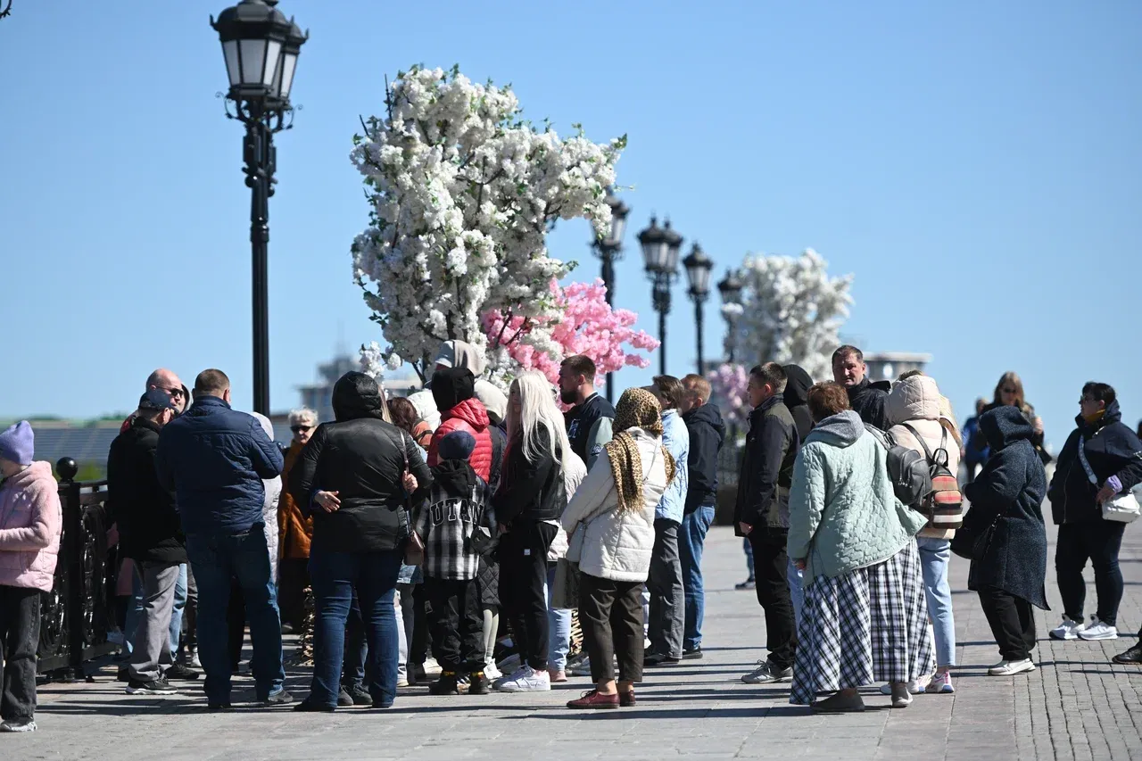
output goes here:
[[293, 439], [286, 450], [282, 470], [282, 496], [278, 504], [278, 546], [281, 551], [278, 606], [282, 611], [282, 632], [301, 630], [305, 618], [305, 590], [309, 586], [309, 543], [313, 520], [306, 518], [289, 492], [289, 474], [305, 444], [317, 427], [317, 414], [308, 407], [290, 410], [289, 430]]

